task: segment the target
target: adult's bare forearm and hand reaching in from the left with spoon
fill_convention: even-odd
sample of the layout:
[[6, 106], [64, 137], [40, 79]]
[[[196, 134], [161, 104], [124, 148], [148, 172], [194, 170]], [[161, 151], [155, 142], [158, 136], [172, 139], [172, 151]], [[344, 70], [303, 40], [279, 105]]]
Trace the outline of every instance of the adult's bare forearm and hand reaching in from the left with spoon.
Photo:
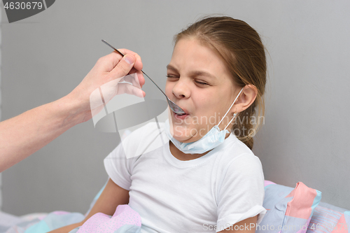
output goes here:
[[[90, 120], [90, 94], [102, 85], [113, 83], [112, 80], [128, 73], [137, 73], [136, 83], [142, 87], [141, 57], [130, 50], [121, 51], [125, 57], [117, 52], [101, 57], [82, 82], [65, 97], [0, 122], [0, 172], [24, 160], [67, 129]], [[141, 89], [130, 86], [121, 91], [144, 96]]]

